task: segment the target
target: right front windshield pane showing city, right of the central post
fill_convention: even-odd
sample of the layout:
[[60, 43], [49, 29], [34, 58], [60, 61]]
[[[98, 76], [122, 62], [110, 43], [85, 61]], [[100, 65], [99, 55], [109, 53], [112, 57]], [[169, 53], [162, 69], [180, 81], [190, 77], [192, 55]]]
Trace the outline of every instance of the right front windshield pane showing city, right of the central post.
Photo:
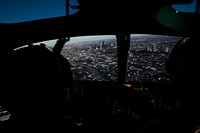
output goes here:
[[165, 61], [172, 47], [181, 39], [177, 36], [131, 35], [127, 60], [128, 82], [168, 82]]

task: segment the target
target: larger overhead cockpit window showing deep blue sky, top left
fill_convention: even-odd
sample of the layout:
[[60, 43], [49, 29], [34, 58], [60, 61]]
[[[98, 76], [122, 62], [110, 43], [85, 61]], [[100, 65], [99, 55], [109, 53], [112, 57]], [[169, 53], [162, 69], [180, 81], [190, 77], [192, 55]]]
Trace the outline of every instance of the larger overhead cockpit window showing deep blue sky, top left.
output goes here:
[[0, 23], [61, 17], [66, 16], [66, 13], [72, 15], [79, 11], [74, 8], [76, 6], [79, 6], [77, 0], [1, 0]]

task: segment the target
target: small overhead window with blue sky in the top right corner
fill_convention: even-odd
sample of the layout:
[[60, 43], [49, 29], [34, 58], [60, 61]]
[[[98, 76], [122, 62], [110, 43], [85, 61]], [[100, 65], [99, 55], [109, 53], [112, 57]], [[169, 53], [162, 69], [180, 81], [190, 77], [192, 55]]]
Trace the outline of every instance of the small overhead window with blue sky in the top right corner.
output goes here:
[[187, 4], [174, 4], [172, 8], [176, 10], [176, 12], [183, 13], [200, 13], [200, 1], [193, 0], [191, 3]]

